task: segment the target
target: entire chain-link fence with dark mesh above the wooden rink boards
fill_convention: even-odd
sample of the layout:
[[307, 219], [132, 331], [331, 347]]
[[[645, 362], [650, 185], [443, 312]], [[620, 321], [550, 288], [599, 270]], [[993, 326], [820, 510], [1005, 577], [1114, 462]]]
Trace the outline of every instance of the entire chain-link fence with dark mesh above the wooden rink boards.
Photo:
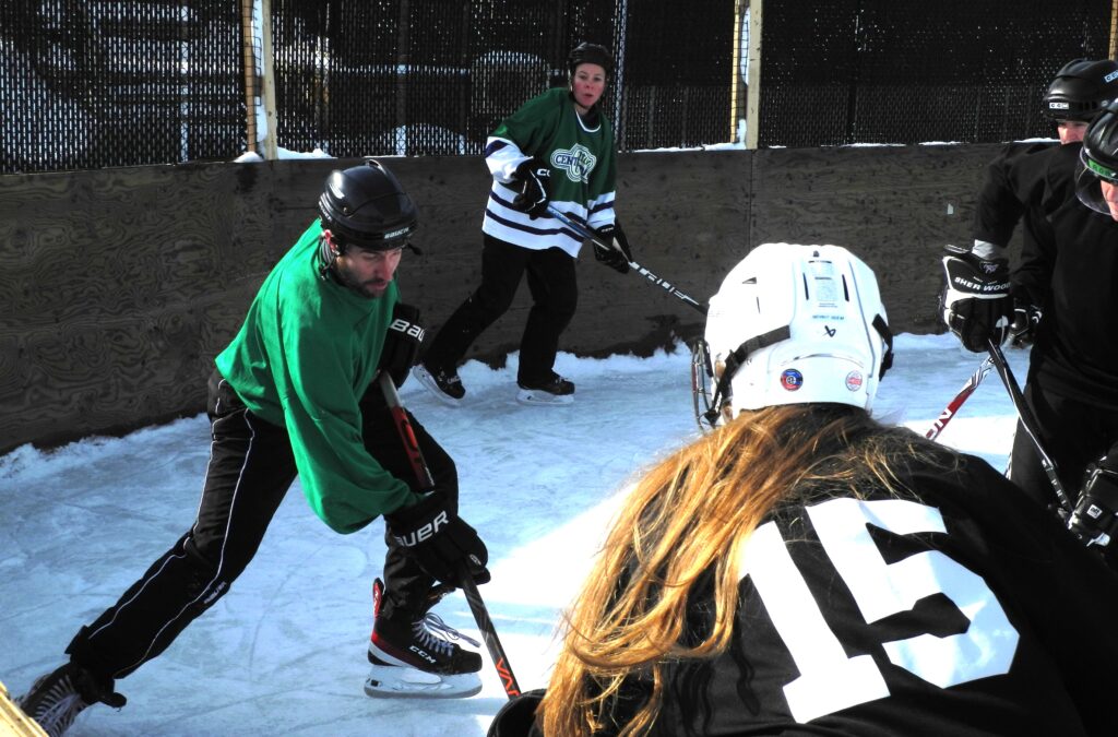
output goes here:
[[[0, 173], [255, 149], [250, 4], [0, 2]], [[334, 157], [477, 154], [502, 117], [565, 83], [567, 53], [589, 40], [617, 57], [601, 104], [623, 151], [740, 142], [751, 26], [760, 148], [1045, 136], [1048, 82], [1072, 58], [1107, 56], [1115, 0], [764, 0], [752, 23], [749, 4], [273, 0], [276, 141]]]

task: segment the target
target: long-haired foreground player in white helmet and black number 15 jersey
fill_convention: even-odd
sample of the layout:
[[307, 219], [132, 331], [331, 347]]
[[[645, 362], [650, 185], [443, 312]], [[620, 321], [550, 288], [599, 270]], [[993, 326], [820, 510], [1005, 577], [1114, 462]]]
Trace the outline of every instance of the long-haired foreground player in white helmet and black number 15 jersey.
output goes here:
[[1118, 578], [980, 459], [871, 418], [865, 264], [759, 246], [705, 341], [719, 426], [636, 482], [542, 701], [491, 735], [1118, 734]]

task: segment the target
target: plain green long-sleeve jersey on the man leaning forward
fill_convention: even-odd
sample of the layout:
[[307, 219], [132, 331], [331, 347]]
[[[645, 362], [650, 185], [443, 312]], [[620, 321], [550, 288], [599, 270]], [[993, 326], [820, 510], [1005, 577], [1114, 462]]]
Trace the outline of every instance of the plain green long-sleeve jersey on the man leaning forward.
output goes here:
[[377, 374], [398, 291], [394, 281], [368, 299], [324, 277], [321, 234], [315, 221], [276, 264], [216, 363], [253, 414], [287, 429], [314, 512], [354, 532], [417, 501], [366, 448], [358, 406]]

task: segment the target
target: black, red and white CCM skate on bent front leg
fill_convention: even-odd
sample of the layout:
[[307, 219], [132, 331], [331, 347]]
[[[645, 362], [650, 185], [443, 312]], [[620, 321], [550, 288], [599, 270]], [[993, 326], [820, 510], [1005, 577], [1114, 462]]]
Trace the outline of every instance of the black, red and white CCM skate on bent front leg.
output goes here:
[[398, 622], [381, 617], [383, 590], [379, 578], [372, 582], [372, 669], [364, 692], [375, 698], [461, 699], [481, 691], [481, 655], [453, 641], [464, 640], [475, 648], [480, 643], [448, 626], [437, 614], [425, 612], [418, 620]]

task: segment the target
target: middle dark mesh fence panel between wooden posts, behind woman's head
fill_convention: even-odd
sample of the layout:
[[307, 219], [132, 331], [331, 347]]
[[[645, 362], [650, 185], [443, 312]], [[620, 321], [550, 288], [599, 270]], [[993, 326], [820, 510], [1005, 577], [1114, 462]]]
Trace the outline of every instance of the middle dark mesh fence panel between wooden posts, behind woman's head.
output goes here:
[[[645, 7], [647, 6], [647, 7]], [[335, 157], [476, 154], [566, 83], [579, 41], [617, 56], [601, 106], [623, 149], [726, 141], [733, 2], [273, 3], [281, 145]]]

